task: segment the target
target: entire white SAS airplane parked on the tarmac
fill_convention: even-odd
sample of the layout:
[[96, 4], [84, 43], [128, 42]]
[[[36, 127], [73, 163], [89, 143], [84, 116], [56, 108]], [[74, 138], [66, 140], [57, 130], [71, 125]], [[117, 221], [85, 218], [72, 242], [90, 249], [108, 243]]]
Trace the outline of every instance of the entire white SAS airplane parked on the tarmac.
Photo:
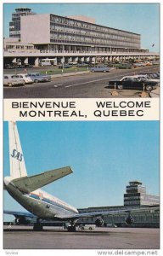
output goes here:
[[[20, 137], [16, 123], [8, 122], [9, 131], [9, 158], [10, 158], [10, 176], [4, 177], [4, 189], [6, 189], [15, 201], [29, 212], [4, 211], [15, 217], [16, 224], [29, 224], [31, 218], [37, 218], [33, 230], [42, 230], [41, 220], [63, 220], [69, 221], [69, 231], [76, 231], [76, 222], [79, 218], [97, 217], [95, 224], [102, 226], [104, 224], [103, 216], [108, 214], [118, 214], [126, 212], [126, 224], [132, 224], [133, 218], [130, 212], [149, 211], [151, 207], [144, 208], [126, 208], [122, 210], [110, 210], [106, 212], [88, 212], [79, 213], [75, 207], [70, 206], [65, 201], [49, 195], [43, 191], [43, 186], [48, 183], [64, 177], [72, 172], [70, 166], [43, 172], [34, 176], [27, 176], [25, 168], [25, 159], [22, 153]], [[158, 208], [158, 207], [152, 207]]]

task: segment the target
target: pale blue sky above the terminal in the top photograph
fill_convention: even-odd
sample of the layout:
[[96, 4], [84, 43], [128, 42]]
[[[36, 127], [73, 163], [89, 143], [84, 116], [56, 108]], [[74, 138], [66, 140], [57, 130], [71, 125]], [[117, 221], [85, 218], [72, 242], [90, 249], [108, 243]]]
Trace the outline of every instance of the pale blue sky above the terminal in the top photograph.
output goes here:
[[157, 52], [160, 49], [160, 3], [5, 3], [5, 37], [8, 37], [11, 14], [19, 7], [31, 8], [37, 14], [87, 15], [95, 18], [99, 25], [141, 34], [142, 48]]

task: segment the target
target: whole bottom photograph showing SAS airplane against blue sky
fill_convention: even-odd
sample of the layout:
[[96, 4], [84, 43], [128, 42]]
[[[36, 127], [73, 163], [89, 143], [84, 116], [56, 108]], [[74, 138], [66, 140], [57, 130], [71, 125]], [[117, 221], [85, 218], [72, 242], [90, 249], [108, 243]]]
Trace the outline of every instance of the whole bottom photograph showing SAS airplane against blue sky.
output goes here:
[[3, 124], [3, 249], [159, 249], [159, 121]]

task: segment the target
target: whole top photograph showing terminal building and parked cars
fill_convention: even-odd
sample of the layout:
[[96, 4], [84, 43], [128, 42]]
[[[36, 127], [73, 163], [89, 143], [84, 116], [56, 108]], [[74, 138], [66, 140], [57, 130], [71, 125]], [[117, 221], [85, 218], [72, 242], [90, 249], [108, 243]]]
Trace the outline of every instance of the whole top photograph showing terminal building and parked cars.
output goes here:
[[160, 3], [3, 3], [3, 98], [160, 97]]

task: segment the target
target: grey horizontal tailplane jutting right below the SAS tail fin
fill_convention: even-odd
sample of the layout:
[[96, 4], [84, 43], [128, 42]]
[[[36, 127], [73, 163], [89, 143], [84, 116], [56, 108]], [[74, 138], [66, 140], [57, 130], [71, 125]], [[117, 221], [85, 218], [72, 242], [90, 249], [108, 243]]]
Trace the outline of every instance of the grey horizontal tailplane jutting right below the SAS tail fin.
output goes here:
[[55, 169], [48, 172], [43, 172], [30, 177], [19, 177], [12, 180], [15, 187], [25, 193], [30, 193], [34, 190], [40, 189], [48, 183], [64, 177], [72, 172], [70, 166]]

